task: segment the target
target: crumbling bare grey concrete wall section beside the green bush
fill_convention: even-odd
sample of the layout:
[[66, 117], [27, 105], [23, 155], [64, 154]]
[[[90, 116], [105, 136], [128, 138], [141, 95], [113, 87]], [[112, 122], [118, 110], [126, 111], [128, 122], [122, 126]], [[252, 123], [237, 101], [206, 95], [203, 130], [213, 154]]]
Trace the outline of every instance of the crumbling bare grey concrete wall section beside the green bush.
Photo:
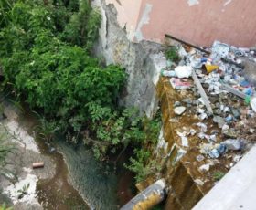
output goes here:
[[120, 105], [136, 107], [149, 118], [153, 117], [158, 104], [155, 85], [163, 68], [161, 64], [166, 62], [158, 56], [161, 46], [147, 41], [131, 42], [117, 22], [116, 7], [106, 5], [105, 0], [94, 0], [93, 5], [99, 7], [102, 15], [94, 52], [105, 58], [107, 64], [121, 65], [128, 75]]

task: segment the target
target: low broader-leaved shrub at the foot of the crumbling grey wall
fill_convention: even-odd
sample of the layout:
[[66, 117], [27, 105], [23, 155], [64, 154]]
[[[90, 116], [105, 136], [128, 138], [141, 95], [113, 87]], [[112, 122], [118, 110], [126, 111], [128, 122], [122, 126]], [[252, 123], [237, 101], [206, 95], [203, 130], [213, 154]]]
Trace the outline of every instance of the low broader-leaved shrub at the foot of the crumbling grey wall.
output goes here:
[[138, 115], [138, 110], [116, 110], [112, 113], [103, 110], [103, 116], [102, 120], [93, 124], [91, 128], [100, 142], [95, 149], [99, 153], [98, 157], [103, 158], [108, 152], [125, 150], [128, 145], [139, 146], [144, 141], [142, 119]]

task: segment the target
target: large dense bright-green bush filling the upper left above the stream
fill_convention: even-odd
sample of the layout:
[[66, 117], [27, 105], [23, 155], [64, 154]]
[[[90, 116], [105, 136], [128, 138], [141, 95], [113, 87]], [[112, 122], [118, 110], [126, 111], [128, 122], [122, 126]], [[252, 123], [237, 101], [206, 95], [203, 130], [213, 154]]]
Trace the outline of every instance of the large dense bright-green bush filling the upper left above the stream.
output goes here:
[[[126, 76], [123, 68], [101, 67], [85, 50], [92, 47], [101, 20], [88, 1], [80, 1], [72, 16], [69, 7], [62, 4], [58, 11], [59, 6], [33, 1], [13, 5], [11, 23], [0, 31], [1, 65], [5, 84], [22, 93], [32, 109], [43, 110], [65, 131], [80, 131], [89, 121], [100, 121], [103, 110], [114, 110]], [[56, 26], [63, 14], [69, 22]], [[78, 27], [74, 16], [79, 17]], [[65, 37], [69, 29], [77, 33], [72, 34], [77, 43]]]

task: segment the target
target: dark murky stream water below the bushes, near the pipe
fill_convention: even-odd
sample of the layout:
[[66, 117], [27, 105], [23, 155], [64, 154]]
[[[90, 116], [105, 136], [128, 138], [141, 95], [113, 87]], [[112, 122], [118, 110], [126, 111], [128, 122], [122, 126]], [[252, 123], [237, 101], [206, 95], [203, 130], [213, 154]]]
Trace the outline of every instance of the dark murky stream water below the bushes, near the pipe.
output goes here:
[[[26, 111], [22, 117], [30, 132], [35, 131], [37, 120]], [[119, 209], [133, 194], [130, 190], [133, 175], [123, 169], [95, 160], [91, 150], [82, 144], [74, 146], [58, 139], [48, 146], [37, 139], [40, 152], [56, 164], [51, 179], [37, 182], [37, 199], [44, 209]], [[57, 149], [49, 152], [50, 148]]]

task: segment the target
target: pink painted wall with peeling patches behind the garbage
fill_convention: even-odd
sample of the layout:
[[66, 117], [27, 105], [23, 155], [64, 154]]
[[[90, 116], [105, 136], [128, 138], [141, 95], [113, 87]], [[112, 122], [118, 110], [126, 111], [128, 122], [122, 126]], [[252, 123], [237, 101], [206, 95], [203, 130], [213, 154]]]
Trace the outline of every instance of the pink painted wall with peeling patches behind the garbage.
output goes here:
[[[167, 33], [199, 46], [211, 46], [216, 39], [239, 47], [256, 45], [255, 0], [107, 2], [117, 5], [121, 25], [133, 25], [126, 27], [126, 30], [134, 41], [147, 39], [162, 42]], [[139, 15], [136, 14], [138, 8]]]

